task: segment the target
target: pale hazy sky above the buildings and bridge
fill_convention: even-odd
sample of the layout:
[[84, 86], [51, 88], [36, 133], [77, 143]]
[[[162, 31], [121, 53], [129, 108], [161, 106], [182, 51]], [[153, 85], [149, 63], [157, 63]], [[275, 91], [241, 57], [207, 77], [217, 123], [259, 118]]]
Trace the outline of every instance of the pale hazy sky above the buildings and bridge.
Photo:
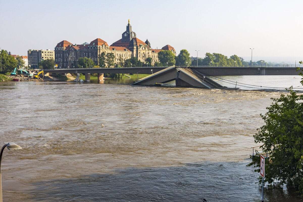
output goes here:
[[[279, 1], [6, 1], [0, 0], [0, 48], [16, 55], [101, 38], [111, 45], [130, 18], [152, 48], [173, 46], [192, 56], [303, 56], [302, 0]], [[298, 58], [303, 60], [303, 57]]]

